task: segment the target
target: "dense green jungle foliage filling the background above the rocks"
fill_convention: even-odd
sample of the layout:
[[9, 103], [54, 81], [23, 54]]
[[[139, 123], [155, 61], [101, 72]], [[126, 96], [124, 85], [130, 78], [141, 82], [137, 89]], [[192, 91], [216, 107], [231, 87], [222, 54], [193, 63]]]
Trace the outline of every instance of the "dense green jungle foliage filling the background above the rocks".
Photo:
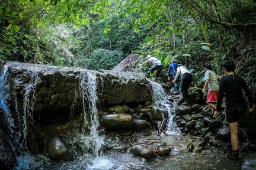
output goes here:
[[100, 70], [152, 54], [187, 65], [200, 86], [203, 63], [221, 77], [233, 60], [256, 96], [255, 0], [0, 2], [2, 61]]

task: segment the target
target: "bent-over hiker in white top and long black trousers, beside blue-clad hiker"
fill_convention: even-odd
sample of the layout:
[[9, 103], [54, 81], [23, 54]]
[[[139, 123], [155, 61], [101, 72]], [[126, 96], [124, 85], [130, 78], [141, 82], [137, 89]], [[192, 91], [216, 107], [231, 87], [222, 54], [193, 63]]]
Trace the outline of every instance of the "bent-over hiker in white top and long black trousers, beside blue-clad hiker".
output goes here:
[[183, 94], [183, 98], [185, 100], [184, 104], [189, 104], [188, 88], [190, 87], [193, 81], [192, 73], [188, 71], [187, 67], [178, 64], [177, 73], [172, 83], [175, 83], [175, 81], [178, 80], [178, 76], [181, 76], [181, 93]]

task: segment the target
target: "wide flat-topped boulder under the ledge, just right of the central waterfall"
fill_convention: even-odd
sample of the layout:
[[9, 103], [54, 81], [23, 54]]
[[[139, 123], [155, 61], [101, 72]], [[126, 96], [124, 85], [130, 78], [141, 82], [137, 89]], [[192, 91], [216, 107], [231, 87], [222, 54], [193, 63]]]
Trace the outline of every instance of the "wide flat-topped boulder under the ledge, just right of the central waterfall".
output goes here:
[[103, 115], [101, 124], [107, 130], [130, 130], [132, 126], [132, 116], [124, 113]]

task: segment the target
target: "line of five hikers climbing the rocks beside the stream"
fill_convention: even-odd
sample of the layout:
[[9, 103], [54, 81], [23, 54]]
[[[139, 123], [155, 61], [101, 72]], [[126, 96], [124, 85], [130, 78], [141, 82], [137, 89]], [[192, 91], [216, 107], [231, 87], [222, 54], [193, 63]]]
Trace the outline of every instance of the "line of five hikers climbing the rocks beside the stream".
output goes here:
[[[144, 64], [152, 61], [155, 67], [151, 68], [151, 73], [157, 70], [156, 79], [161, 73], [164, 66], [161, 61], [157, 58], [148, 55], [147, 60], [140, 64]], [[218, 84], [217, 76], [210, 64], [204, 64], [204, 87], [202, 92], [205, 93], [207, 90], [207, 99], [206, 103], [212, 108], [213, 117], [217, 119], [217, 113], [222, 112], [222, 100], [223, 97], [226, 97], [226, 108], [225, 115], [226, 120], [229, 124], [229, 130], [231, 132], [231, 146], [232, 150], [228, 153], [228, 158], [238, 160], [239, 159], [239, 150], [238, 150], [238, 119], [239, 116], [244, 115], [247, 111], [247, 103], [245, 102], [243, 96], [243, 90], [248, 96], [249, 100], [249, 111], [251, 112], [254, 109], [252, 101], [252, 93], [249, 90], [247, 83], [240, 76], [235, 74], [236, 66], [232, 61], [226, 61], [223, 64], [226, 76], [222, 77], [220, 83]], [[172, 61], [169, 64], [168, 68], [168, 80], [171, 80], [170, 72], [172, 71], [172, 83], [174, 83], [175, 91], [178, 90], [178, 77], [181, 77], [181, 92], [183, 94], [185, 104], [189, 103], [189, 94], [188, 88], [190, 87], [193, 81], [192, 73], [187, 69], [187, 67], [178, 64], [175, 61]]]

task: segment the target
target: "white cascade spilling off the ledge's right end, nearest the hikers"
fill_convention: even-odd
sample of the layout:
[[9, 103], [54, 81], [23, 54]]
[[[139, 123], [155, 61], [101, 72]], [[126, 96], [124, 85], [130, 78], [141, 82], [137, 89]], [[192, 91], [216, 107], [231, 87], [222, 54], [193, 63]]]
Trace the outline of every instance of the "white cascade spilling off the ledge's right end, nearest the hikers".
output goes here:
[[168, 100], [167, 93], [165, 92], [164, 88], [161, 86], [161, 84], [156, 83], [155, 81], [149, 80], [152, 84], [152, 97], [153, 97], [153, 103], [163, 109], [167, 110], [168, 112], [168, 123], [167, 123], [167, 134], [168, 135], [177, 135], [181, 133], [180, 129], [176, 125], [176, 123], [173, 121], [174, 115], [174, 109], [175, 104], [170, 103]]

